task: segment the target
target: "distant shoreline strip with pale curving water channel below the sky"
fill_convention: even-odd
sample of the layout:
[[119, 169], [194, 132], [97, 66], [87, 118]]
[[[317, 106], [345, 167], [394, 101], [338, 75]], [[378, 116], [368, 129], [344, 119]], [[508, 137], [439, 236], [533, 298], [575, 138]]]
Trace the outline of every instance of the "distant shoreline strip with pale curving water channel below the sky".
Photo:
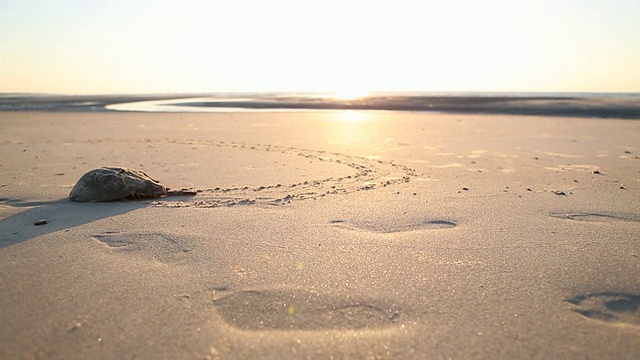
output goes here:
[[0, 111], [373, 110], [640, 119], [640, 94], [380, 94], [337, 99], [307, 94], [2, 95]]

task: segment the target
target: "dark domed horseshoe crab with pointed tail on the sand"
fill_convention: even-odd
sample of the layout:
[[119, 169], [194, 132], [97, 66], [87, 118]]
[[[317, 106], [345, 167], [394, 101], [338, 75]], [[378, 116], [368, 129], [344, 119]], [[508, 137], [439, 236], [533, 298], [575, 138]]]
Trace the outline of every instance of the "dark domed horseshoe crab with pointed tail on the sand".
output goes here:
[[69, 198], [78, 202], [107, 202], [195, 194], [190, 190], [171, 190], [140, 170], [102, 167], [82, 175]]

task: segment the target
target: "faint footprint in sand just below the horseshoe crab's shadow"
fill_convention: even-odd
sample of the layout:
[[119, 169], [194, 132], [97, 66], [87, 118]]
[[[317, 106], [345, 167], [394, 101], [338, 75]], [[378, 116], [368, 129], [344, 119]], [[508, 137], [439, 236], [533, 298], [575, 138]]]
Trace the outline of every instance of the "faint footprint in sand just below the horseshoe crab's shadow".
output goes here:
[[164, 263], [185, 260], [190, 251], [180, 239], [162, 233], [104, 232], [93, 238], [114, 252], [150, 257]]

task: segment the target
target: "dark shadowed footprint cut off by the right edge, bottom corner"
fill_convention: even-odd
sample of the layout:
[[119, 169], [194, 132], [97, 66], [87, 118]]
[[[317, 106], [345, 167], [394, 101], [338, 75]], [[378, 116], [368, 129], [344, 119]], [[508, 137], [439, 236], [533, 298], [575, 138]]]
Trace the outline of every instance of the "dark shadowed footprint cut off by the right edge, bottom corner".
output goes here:
[[567, 302], [576, 306], [573, 311], [589, 319], [640, 327], [640, 295], [602, 292], [578, 295]]

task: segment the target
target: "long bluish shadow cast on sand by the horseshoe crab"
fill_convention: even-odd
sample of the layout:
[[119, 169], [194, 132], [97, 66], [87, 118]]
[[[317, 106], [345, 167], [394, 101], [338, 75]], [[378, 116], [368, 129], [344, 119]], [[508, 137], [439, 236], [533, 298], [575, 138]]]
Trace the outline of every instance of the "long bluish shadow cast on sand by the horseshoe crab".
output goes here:
[[[20, 199], [0, 199], [0, 206], [19, 211], [0, 220], [0, 249], [60, 230], [71, 229], [96, 220], [144, 208], [145, 201], [117, 201], [109, 203], [77, 203], [68, 198], [53, 201], [26, 202]], [[14, 209], [11, 209], [14, 208]], [[46, 224], [35, 225], [39, 220]]]

